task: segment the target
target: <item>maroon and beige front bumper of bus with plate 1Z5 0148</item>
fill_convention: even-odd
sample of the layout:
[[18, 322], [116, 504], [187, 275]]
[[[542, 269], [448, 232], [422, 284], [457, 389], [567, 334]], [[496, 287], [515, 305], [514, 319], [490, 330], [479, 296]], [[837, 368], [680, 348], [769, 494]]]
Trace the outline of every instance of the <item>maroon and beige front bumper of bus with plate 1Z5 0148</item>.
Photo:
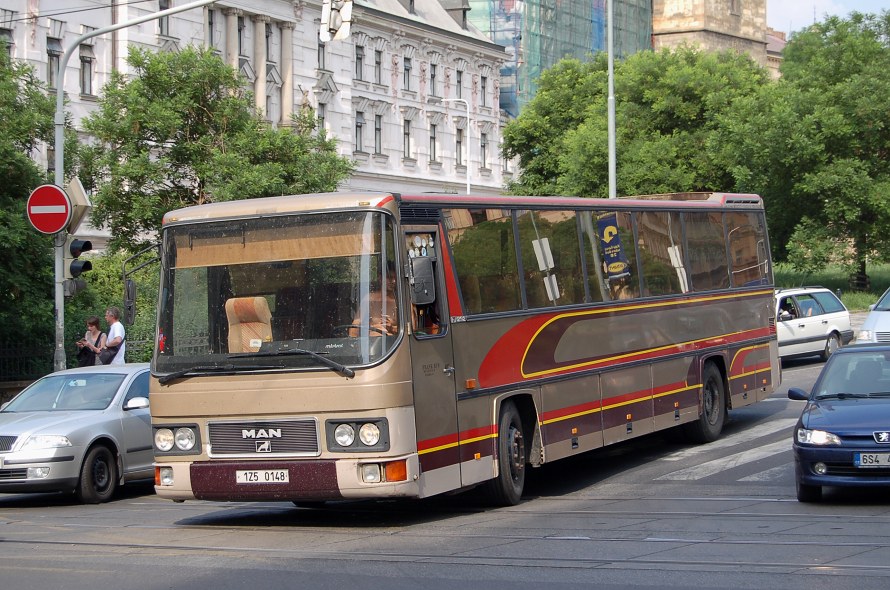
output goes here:
[[305, 461], [155, 463], [155, 492], [169, 500], [416, 498], [419, 478], [416, 454]]

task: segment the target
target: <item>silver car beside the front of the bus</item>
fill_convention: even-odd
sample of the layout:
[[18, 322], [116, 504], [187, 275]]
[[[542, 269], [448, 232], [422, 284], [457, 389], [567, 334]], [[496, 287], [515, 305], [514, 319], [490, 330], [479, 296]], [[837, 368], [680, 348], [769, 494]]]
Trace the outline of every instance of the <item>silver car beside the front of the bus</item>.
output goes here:
[[67, 369], [0, 408], [0, 493], [73, 492], [107, 502], [150, 479], [148, 364]]

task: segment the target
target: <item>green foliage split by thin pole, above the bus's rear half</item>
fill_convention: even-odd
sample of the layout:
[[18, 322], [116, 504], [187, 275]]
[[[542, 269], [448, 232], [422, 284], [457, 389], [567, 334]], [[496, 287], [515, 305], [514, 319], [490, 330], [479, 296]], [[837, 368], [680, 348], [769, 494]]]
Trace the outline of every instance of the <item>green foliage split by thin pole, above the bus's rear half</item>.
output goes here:
[[[504, 132], [522, 173], [512, 192], [608, 194], [607, 63], [563, 60]], [[768, 82], [747, 56], [681, 47], [636, 53], [615, 67], [620, 194], [731, 190], [705, 149], [718, 118]], [[540, 194], [534, 192], [533, 194]]]

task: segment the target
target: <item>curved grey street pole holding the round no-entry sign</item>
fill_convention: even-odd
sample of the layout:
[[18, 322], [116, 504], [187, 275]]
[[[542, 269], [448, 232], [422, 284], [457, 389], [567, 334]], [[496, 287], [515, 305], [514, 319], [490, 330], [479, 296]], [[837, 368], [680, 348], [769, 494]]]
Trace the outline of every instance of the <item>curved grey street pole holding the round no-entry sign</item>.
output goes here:
[[[124, 29], [126, 27], [132, 27], [133, 25], [138, 25], [144, 23], [146, 21], [154, 20], [157, 18], [161, 18], [170, 14], [176, 14], [178, 12], [184, 12], [186, 10], [191, 10], [192, 8], [199, 8], [201, 6], [207, 6], [208, 4], [213, 4], [216, 0], [198, 0], [197, 2], [191, 2], [189, 4], [183, 4], [182, 6], [177, 6], [175, 8], [168, 8], [167, 10], [161, 10], [160, 12], [152, 12], [139, 18], [134, 18], [133, 20], [128, 20], [126, 22], [117, 23], [115, 25], [111, 25], [109, 27], [103, 27], [101, 29], [96, 29], [95, 31], [90, 31], [85, 33], [74, 40], [71, 45], [65, 50], [65, 53], [62, 54], [62, 57], [59, 59], [59, 72], [56, 76], [56, 116], [55, 116], [55, 149], [56, 149], [56, 173], [55, 173], [55, 184], [59, 188], [62, 188], [65, 185], [65, 68], [68, 66], [68, 60], [71, 58], [71, 55], [74, 53], [74, 50], [80, 47], [80, 44], [87, 39], [92, 37], [96, 37], [98, 35], [104, 35], [105, 33], [110, 33], [112, 31], [116, 31], [118, 29]], [[114, 67], [114, 64], [112, 64]], [[60, 231], [55, 236], [55, 307], [56, 307], [56, 349], [53, 353], [53, 367], [56, 371], [61, 371], [65, 368], [65, 293], [63, 282], [65, 280], [65, 269], [63, 268], [65, 264], [65, 238], [67, 237], [66, 231]]]

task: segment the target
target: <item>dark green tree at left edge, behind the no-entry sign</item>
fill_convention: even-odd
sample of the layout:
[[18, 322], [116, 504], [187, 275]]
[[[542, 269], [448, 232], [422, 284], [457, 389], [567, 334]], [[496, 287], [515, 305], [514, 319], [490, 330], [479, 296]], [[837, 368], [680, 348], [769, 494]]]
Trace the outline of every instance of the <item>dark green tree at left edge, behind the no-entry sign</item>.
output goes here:
[[[30, 158], [53, 135], [53, 101], [31, 67], [0, 52], [0, 325], [8, 343], [53, 338], [53, 241], [31, 227], [25, 207], [45, 181]], [[51, 356], [50, 356], [51, 358]]]

